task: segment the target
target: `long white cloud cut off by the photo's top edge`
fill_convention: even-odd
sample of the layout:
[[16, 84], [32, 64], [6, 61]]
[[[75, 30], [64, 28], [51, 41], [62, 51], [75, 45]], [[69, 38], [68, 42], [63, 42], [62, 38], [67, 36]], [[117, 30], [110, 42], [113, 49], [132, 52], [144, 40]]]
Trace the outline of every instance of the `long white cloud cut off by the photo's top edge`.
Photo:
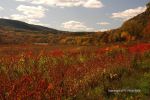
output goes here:
[[16, 0], [20, 2], [29, 2], [32, 4], [44, 4], [58, 7], [86, 7], [101, 8], [103, 4], [100, 0]]

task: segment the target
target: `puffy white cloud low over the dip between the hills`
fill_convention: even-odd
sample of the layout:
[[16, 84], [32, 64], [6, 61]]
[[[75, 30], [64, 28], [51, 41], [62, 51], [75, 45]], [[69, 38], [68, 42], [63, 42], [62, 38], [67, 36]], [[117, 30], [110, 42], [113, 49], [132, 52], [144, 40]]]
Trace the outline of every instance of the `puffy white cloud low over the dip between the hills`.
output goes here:
[[73, 31], [91, 31], [93, 28], [87, 27], [84, 23], [78, 21], [68, 21], [62, 23], [62, 27]]

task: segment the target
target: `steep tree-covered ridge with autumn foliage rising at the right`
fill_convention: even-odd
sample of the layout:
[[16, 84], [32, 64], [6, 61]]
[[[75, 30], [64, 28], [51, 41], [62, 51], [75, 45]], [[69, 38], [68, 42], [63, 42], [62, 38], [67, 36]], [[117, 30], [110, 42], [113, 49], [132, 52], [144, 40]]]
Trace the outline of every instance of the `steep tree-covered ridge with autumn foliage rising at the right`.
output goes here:
[[[135, 40], [144, 38], [149, 34], [148, 26], [150, 22], [150, 3], [147, 4], [147, 10], [138, 16], [135, 16], [118, 28], [113, 36], [114, 41]], [[149, 34], [150, 35], [150, 34]]]

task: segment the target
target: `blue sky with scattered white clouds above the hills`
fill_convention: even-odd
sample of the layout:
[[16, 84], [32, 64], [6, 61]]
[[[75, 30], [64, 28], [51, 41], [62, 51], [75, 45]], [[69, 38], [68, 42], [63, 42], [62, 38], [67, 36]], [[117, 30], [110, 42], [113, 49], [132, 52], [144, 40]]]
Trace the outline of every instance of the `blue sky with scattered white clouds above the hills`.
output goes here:
[[144, 12], [149, 0], [0, 0], [0, 18], [64, 31], [106, 31]]

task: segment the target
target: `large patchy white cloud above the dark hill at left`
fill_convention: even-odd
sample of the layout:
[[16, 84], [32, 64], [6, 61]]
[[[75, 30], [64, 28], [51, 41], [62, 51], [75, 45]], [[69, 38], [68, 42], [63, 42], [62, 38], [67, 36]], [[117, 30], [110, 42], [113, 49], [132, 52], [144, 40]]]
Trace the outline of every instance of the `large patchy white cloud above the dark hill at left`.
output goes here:
[[13, 14], [10, 15], [11, 19], [25, 21], [30, 24], [38, 24], [40, 23], [40, 19], [45, 17], [46, 8], [42, 6], [25, 6], [20, 5], [16, 8], [21, 14]]

